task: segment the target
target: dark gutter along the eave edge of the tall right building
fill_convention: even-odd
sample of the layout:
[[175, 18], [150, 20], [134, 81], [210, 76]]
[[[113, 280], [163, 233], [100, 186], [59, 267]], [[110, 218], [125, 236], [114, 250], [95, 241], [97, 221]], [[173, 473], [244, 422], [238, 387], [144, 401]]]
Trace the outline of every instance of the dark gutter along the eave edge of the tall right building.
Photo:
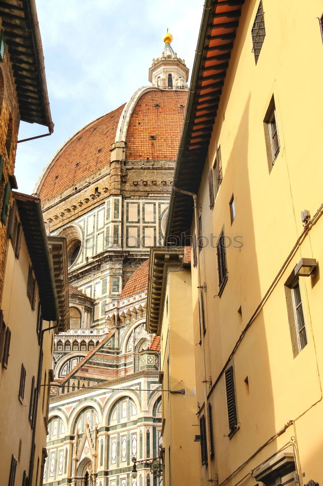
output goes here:
[[[198, 40], [197, 40], [197, 46], [196, 46], [196, 51], [195, 51], [195, 57], [194, 57], [194, 64], [193, 64], [193, 69], [192, 69], [192, 77], [191, 77], [191, 85], [190, 85], [190, 94], [186, 106], [186, 113], [185, 113], [185, 120], [184, 120], [184, 125], [183, 125], [183, 130], [182, 130], [182, 135], [180, 138], [179, 142], [179, 148], [178, 148], [178, 156], [177, 156], [177, 161], [176, 161], [176, 166], [175, 166], [175, 172], [174, 172], [174, 181], [173, 181], [173, 189], [169, 201], [169, 209], [168, 209], [168, 218], [167, 218], [167, 224], [166, 224], [166, 231], [165, 231], [165, 241], [167, 241], [167, 238], [171, 236], [171, 222], [173, 218], [173, 213], [174, 213], [174, 204], [175, 204], [175, 193], [174, 191], [174, 186], [178, 185], [179, 182], [179, 177], [181, 173], [181, 166], [183, 163], [183, 155], [184, 155], [184, 149], [186, 145], [186, 139], [188, 135], [188, 129], [190, 126], [190, 121], [191, 121], [191, 116], [192, 116], [192, 111], [193, 111], [193, 103], [194, 103], [194, 98], [195, 98], [195, 90], [198, 82], [198, 75], [200, 72], [200, 67], [201, 67], [201, 62], [202, 62], [202, 54], [203, 54], [203, 49], [204, 49], [204, 43], [205, 43], [205, 37], [207, 35], [208, 31], [208, 26], [209, 26], [209, 21], [210, 21], [210, 13], [211, 13], [211, 6], [214, 0], [205, 0], [204, 4], [204, 10], [203, 10], [203, 15], [202, 15], [202, 20], [201, 20], [201, 27], [200, 27], [200, 32], [198, 35]], [[167, 245], [167, 243], [166, 243]]]

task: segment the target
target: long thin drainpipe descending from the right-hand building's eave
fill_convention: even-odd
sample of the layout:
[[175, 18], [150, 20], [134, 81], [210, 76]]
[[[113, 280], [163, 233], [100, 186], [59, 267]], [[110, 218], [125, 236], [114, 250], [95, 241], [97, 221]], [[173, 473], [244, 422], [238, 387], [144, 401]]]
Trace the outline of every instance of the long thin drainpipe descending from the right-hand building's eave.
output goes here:
[[[188, 196], [193, 197], [194, 201], [194, 220], [195, 220], [195, 234], [196, 234], [196, 241], [199, 241], [199, 225], [198, 225], [198, 211], [197, 211], [197, 195], [194, 192], [183, 191], [182, 189], [178, 189], [173, 186], [174, 191], [180, 192], [181, 194], [186, 194]], [[207, 377], [206, 377], [206, 365], [205, 365], [205, 343], [204, 343], [204, 329], [203, 329], [203, 289], [201, 288], [201, 269], [200, 269], [200, 248], [199, 245], [196, 244], [196, 268], [197, 268], [197, 289], [198, 289], [198, 307], [199, 307], [199, 321], [200, 321], [200, 335], [201, 335], [201, 349], [202, 349], [202, 364], [203, 364], [203, 392], [204, 392], [204, 413], [206, 417], [206, 421], [208, 424], [208, 430], [210, 431], [210, 421], [209, 421], [209, 414], [208, 414], [208, 390], [207, 390]], [[209, 479], [205, 480], [205, 484], [207, 485], [211, 481], [211, 456], [210, 456], [210, 443], [207, 440], [207, 452], [208, 452], [208, 477]]]

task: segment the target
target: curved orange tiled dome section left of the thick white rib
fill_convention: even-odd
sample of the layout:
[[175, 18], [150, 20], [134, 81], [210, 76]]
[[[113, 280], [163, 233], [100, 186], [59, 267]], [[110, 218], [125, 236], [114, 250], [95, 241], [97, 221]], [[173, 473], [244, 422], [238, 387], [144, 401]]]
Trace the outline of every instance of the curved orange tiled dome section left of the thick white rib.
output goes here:
[[111, 145], [123, 108], [124, 104], [92, 121], [66, 142], [40, 188], [42, 202], [65, 191], [110, 162]]

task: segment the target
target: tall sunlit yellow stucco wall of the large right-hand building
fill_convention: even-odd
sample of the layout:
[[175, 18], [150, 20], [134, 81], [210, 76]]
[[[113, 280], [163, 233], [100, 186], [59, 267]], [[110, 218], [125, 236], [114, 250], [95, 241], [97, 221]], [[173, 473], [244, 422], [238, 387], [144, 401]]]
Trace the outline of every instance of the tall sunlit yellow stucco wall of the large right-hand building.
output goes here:
[[[317, 17], [322, 1], [263, 0], [266, 36], [255, 65], [251, 28], [258, 1], [246, 1], [234, 42], [217, 112], [198, 204], [203, 234], [213, 246], [201, 251], [201, 281], [207, 283], [207, 376], [216, 382], [210, 392], [216, 461], [211, 477], [236, 485], [251, 469], [297, 438], [300, 482], [323, 482], [322, 295], [320, 270], [300, 278], [307, 346], [293, 356], [285, 286], [302, 258], [323, 258], [323, 218], [319, 218], [280, 273], [268, 300], [230, 355], [242, 330], [270, 288], [303, 231], [301, 210], [311, 217], [322, 203], [323, 42]], [[269, 173], [263, 120], [275, 99], [280, 151]], [[208, 174], [221, 145], [223, 182], [210, 210]], [[231, 225], [229, 201], [234, 194], [236, 217]], [[228, 280], [218, 294], [215, 244], [224, 227], [243, 247], [226, 249]], [[198, 340], [197, 272], [192, 268], [194, 338]], [[178, 298], [176, 299], [178, 300]], [[242, 314], [238, 312], [242, 308]], [[195, 347], [197, 400], [203, 402], [201, 349]], [[227, 360], [230, 359], [229, 362]], [[239, 430], [229, 439], [224, 366], [234, 366]], [[248, 377], [249, 389], [245, 383]], [[299, 418], [298, 418], [299, 417]], [[287, 422], [286, 432], [248, 460]], [[228, 481], [226, 478], [248, 461]], [[205, 468], [203, 468], [205, 469]], [[205, 471], [203, 471], [204, 477]], [[247, 475], [241, 484], [255, 484]]]

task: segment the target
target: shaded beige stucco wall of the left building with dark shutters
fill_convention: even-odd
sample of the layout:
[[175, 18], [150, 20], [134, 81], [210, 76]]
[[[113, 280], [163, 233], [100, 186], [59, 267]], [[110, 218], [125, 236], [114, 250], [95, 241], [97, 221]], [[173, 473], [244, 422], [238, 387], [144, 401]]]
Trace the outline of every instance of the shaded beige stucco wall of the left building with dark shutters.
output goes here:
[[[3, 484], [7, 484], [9, 480], [12, 454], [17, 460], [19, 459], [15, 484], [22, 484], [24, 470], [27, 471], [28, 475], [31, 458], [32, 428], [29, 421], [29, 407], [33, 376], [35, 377], [35, 386], [37, 384], [39, 344], [36, 323], [39, 296], [37, 291], [35, 310], [32, 311], [27, 296], [30, 264], [31, 260], [24, 236], [22, 236], [18, 260], [15, 257], [12, 245], [9, 243], [3, 286], [2, 311], [4, 322], [11, 330], [11, 342], [8, 367], [4, 369], [0, 366], [0, 477], [3, 478]], [[48, 328], [48, 325], [47, 321], [43, 321], [43, 329]], [[51, 339], [52, 331], [45, 332], [41, 384], [44, 384], [45, 372], [48, 380], [48, 369], [52, 367]], [[18, 399], [21, 364], [24, 364], [26, 369], [25, 393], [22, 403]], [[45, 387], [45, 389], [44, 406], [44, 387], [40, 388], [38, 398], [33, 485], [36, 484], [38, 458], [37, 485], [39, 484], [42, 449], [46, 446], [47, 422], [44, 421], [44, 417], [47, 417], [48, 411], [48, 387]]]

